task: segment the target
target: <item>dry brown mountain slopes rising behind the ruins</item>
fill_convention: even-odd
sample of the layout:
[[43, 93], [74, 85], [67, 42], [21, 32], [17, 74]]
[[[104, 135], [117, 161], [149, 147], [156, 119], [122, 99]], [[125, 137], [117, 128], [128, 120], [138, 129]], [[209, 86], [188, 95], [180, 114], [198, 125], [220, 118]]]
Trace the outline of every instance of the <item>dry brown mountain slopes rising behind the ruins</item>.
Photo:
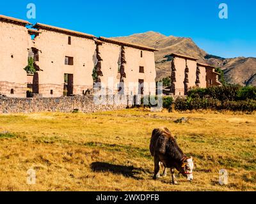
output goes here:
[[147, 33], [132, 34], [131, 36], [117, 37], [115, 40], [126, 41], [153, 47], [159, 50], [155, 52], [156, 80], [171, 75], [170, 54], [173, 52], [198, 58], [199, 62], [211, 64], [223, 69], [228, 83], [241, 85], [256, 85], [256, 58], [237, 57], [225, 59], [207, 54], [199, 48], [191, 38], [165, 36], [161, 33], [148, 31]]

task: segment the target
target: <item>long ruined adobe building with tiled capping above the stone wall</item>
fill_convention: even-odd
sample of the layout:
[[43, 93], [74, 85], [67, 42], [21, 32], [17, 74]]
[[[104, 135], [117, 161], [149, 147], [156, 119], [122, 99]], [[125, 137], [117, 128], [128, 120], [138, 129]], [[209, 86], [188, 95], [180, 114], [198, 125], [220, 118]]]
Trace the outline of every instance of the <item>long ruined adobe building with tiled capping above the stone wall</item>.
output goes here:
[[[0, 94], [84, 95], [95, 82], [113, 94], [155, 94], [154, 48], [0, 15]], [[28, 57], [36, 72], [26, 73]], [[94, 82], [94, 83], [95, 83]], [[110, 82], [110, 83], [109, 83]], [[112, 82], [112, 84], [111, 84]]]

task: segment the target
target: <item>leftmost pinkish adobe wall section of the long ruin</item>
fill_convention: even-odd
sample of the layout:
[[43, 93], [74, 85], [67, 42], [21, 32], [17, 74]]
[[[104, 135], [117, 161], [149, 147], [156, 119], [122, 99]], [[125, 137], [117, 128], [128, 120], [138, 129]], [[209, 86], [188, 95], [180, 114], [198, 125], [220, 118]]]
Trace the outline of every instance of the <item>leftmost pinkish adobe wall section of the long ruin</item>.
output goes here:
[[[0, 93], [12, 97], [26, 97], [30, 36], [22, 25], [0, 21]], [[13, 94], [11, 94], [13, 89]]]

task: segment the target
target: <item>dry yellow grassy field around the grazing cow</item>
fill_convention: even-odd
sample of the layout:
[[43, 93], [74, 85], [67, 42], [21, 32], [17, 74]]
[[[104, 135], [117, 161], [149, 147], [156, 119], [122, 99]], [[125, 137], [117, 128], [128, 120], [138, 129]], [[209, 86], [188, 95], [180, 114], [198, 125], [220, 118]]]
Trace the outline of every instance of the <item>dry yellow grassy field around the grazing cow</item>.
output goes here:
[[[176, 123], [186, 117], [188, 122]], [[193, 182], [152, 180], [148, 146], [167, 127], [193, 156]], [[0, 191], [255, 191], [256, 114], [104, 113], [0, 115]], [[27, 171], [36, 184], [27, 184]], [[220, 186], [219, 170], [228, 171]]]

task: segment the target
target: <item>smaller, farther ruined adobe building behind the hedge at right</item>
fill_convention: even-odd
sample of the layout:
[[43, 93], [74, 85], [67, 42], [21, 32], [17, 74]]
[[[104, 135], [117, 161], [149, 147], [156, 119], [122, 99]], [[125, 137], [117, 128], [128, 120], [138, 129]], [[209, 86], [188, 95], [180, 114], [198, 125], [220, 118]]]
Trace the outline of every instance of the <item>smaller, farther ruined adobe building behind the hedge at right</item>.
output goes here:
[[195, 57], [180, 54], [171, 54], [171, 56], [173, 57], [171, 93], [174, 96], [187, 95], [189, 89], [195, 87], [221, 85], [218, 80], [220, 74], [215, 72], [213, 66], [199, 63]]

